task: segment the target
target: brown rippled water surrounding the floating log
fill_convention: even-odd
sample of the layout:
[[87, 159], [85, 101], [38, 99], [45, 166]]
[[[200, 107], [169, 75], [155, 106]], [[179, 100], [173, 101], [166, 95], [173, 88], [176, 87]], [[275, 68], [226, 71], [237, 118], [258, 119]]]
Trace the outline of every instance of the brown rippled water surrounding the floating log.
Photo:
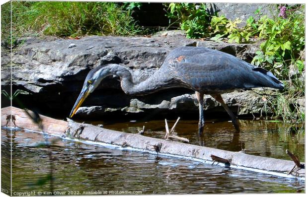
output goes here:
[[[212, 123], [214, 122], [214, 123]], [[304, 161], [305, 132], [281, 123], [241, 121], [242, 131], [233, 132], [231, 123], [207, 123], [204, 143], [210, 147], [248, 154], [289, 159], [288, 148]], [[174, 123], [174, 121], [170, 121]], [[103, 123], [105, 128], [137, 132], [161, 138], [164, 122]], [[177, 134], [199, 144], [196, 122], [180, 121]], [[171, 126], [169, 126], [171, 127]], [[147, 129], [151, 128], [151, 130]], [[297, 128], [298, 129], [298, 128]], [[179, 131], [181, 130], [181, 131]], [[201, 162], [168, 157], [156, 158], [145, 152], [109, 149], [40, 133], [13, 131], [12, 188], [17, 192], [65, 192], [65, 195], [126, 194], [230, 194], [301, 193], [305, 181], [211, 166]], [[53, 141], [48, 147], [42, 142]], [[10, 131], [1, 130], [1, 182], [8, 186]], [[51, 156], [50, 156], [51, 153]], [[51, 178], [52, 177], [52, 178]], [[51, 181], [52, 180], [52, 181]], [[70, 193], [71, 191], [72, 193]], [[87, 193], [84, 193], [87, 192]], [[61, 193], [56, 193], [61, 195]], [[62, 193], [64, 194], [64, 193]]]

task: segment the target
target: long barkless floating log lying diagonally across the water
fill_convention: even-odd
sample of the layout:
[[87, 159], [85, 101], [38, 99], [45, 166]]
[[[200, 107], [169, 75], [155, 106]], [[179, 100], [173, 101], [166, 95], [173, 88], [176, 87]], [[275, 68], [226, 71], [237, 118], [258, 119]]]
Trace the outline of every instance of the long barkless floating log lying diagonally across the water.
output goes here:
[[[1, 109], [1, 127], [6, 127], [6, 125], [10, 127], [10, 118], [7, 118], [10, 113], [15, 119], [15, 129], [40, 131], [40, 128], [33, 123], [33, 120], [24, 110], [15, 107]], [[227, 162], [224, 161], [228, 161], [230, 163], [228, 163], [228, 167], [231, 168], [305, 179], [305, 169], [299, 169], [297, 172], [288, 174], [294, 167], [293, 161], [248, 155], [243, 151], [231, 152], [178, 141], [157, 139], [137, 133], [112, 131], [89, 124], [76, 123], [70, 119], [66, 122], [42, 115], [40, 115], [40, 119], [45, 133], [58, 135], [67, 139], [80, 140], [84, 143], [95, 143], [136, 151], [147, 151], [152, 154], [157, 154], [159, 152], [160, 156], [180, 157], [208, 164], [212, 164], [214, 159], [218, 162], [222, 162], [219, 163], [221, 166], [225, 166]], [[12, 124], [12, 126], [14, 125]], [[219, 158], [223, 158], [223, 160]]]

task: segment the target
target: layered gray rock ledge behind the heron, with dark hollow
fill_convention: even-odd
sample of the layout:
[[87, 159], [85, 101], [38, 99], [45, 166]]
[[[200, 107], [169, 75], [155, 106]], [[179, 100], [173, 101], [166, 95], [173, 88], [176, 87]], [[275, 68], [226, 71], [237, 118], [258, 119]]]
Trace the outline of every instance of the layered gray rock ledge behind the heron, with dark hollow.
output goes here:
[[[135, 83], [146, 80], [163, 63], [170, 50], [180, 46], [204, 46], [251, 60], [257, 46], [235, 45], [186, 39], [184, 35], [155, 37], [100, 37], [80, 40], [28, 38], [12, 55], [13, 92], [21, 89], [28, 94], [18, 95], [23, 107], [39, 109], [43, 114], [68, 116], [88, 71], [99, 65], [121, 64], [131, 69]], [[1, 87], [8, 89], [10, 64], [8, 54], [1, 54]], [[225, 102], [239, 115], [259, 113], [263, 107], [260, 96], [250, 91], [224, 94]], [[19, 102], [20, 103], [20, 102]], [[17, 107], [18, 103], [16, 103]], [[198, 116], [198, 102], [186, 89], [161, 91], [143, 97], [133, 97], [121, 90], [119, 78], [102, 81], [77, 111], [79, 118], [111, 115], [144, 115], [149, 113]], [[205, 112], [224, 112], [224, 109], [205, 96]]]

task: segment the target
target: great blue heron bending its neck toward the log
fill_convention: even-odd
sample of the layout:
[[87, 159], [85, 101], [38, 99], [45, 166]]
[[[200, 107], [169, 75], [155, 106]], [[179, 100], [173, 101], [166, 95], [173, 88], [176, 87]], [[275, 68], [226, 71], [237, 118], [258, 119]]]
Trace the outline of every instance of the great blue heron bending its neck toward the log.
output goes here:
[[84, 80], [70, 114], [71, 118], [84, 99], [109, 75], [119, 76], [123, 91], [131, 95], [145, 95], [175, 87], [194, 90], [199, 102], [199, 133], [203, 131], [205, 123], [204, 94], [211, 95], [221, 103], [230, 115], [234, 128], [239, 131], [238, 120], [222, 99], [222, 93], [255, 87], [284, 88], [283, 83], [270, 71], [248, 64], [230, 54], [204, 47], [180, 47], [172, 50], [162, 66], [139, 84], [133, 83], [130, 71], [124, 66], [109, 64], [93, 68]]

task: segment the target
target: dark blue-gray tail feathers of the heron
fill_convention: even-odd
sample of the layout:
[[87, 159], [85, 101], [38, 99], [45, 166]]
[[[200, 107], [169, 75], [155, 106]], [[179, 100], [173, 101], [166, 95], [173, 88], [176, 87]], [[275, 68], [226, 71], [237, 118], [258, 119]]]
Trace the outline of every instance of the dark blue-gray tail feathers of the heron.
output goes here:
[[252, 69], [256, 73], [254, 73], [254, 79], [257, 86], [259, 87], [271, 87], [283, 90], [284, 84], [278, 80], [276, 76], [273, 75], [272, 72], [267, 71], [261, 67], [255, 67]]

